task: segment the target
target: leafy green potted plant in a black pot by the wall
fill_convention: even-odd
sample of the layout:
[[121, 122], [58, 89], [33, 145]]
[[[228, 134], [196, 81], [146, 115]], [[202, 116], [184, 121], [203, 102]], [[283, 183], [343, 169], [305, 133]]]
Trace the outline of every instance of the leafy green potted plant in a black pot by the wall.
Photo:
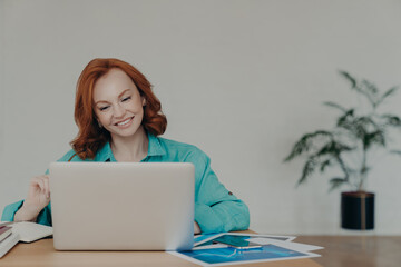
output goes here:
[[401, 128], [401, 120], [395, 115], [380, 112], [381, 105], [398, 88], [392, 87], [381, 93], [374, 83], [356, 80], [345, 71], [339, 72], [351, 83], [351, 90], [366, 100], [368, 110], [324, 102], [340, 111], [333, 129], [303, 135], [284, 161], [306, 157], [297, 185], [317, 171], [340, 174], [330, 178], [330, 191], [343, 186], [350, 188], [341, 194], [342, 228], [373, 229], [374, 194], [366, 191], [365, 181], [374, 164], [370, 160], [371, 156], [378, 152], [378, 148], [401, 155], [400, 150], [389, 149], [389, 135], [392, 129]]

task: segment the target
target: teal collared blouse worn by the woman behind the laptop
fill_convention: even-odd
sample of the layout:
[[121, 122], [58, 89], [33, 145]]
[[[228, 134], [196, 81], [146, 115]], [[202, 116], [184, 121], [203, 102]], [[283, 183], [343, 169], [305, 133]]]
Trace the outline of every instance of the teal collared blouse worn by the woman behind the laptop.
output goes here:
[[[141, 162], [192, 162], [195, 166], [195, 221], [202, 233], [223, 233], [245, 230], [250, 226], [247, 206], [228, 191], [211, 168], [209, 157], [199, 148], [148, 135], [149, 147]], [[71, 149], [58, 161], [68, 161], [75, 151]], [[71, 161], [82, 161], [78, 156]], [[116, 161], [110, 144], [107, 142], [96, 154], [95, 159], [86, 161]], [[48, 171], [47, 171], [48, 172]], [[6, 206], [1, 220], [13, 221], [14, 214], [23, 200]], [[37, 217], [37, 222], [51, 226], [51, 204]]]

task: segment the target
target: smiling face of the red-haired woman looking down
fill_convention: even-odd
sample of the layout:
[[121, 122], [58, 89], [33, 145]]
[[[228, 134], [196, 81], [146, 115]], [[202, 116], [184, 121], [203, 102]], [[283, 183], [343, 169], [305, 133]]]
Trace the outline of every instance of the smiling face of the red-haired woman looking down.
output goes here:
[[138, 131], [145, 98], [123, 70], [111, 69], [96, 81], [94, 102], [96, 117], [111, 139], [133, 137]]

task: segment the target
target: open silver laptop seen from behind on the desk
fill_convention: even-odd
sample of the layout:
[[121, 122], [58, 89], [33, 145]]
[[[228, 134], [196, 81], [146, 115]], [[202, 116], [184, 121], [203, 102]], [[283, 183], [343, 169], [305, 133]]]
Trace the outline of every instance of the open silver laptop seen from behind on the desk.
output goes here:
[[52, 162], [49, 171], [56, 249], [192, 249], [194, 165]]

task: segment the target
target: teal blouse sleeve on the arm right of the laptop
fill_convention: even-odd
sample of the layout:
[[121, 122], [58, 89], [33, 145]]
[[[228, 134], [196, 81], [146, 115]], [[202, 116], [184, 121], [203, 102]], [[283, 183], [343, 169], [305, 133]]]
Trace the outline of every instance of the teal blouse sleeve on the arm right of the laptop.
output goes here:
[[187, 161], [195, 165], [195, 221], [202, 233], [247, 229], [247, 206], [218, 181], [211, 168], [209, 157], [196, 149]]

